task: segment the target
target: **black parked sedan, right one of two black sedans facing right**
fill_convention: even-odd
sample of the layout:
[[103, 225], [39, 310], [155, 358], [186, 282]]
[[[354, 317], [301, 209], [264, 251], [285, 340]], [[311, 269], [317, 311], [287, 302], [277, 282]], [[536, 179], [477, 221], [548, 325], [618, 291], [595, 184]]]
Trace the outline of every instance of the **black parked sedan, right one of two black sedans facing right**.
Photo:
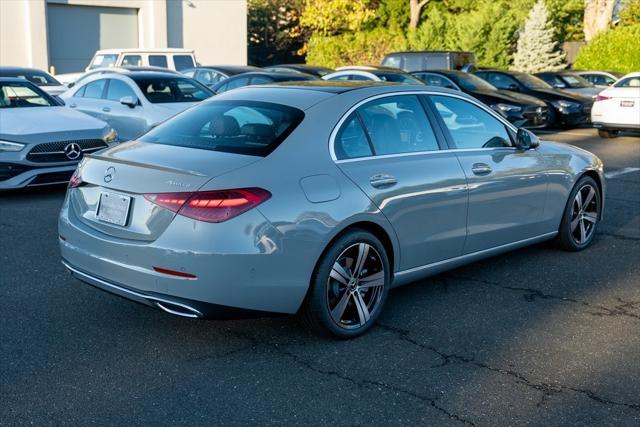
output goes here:
[[554, 89], [531, 74], [518, 71], [481, 70], [475, 73], [498, 89], [506, 89], [535, 96], [552, 106], [549, 111], [553, 114], [550, 123], [560, 126], [577, 126], [589, 123], [593, 99], [590, 97]]

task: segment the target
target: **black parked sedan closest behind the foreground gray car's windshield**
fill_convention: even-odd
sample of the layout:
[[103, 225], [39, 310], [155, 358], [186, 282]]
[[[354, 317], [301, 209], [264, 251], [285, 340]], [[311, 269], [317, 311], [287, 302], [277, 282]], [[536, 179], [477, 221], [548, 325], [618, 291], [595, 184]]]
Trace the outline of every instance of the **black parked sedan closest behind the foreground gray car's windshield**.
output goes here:
[[427, 85], [468, 93], [515, 126], [537, 128], [549, 124], [551, 116], [545, 102], [522, 93], [498, 89], [476, 75], [455, 70], [416, 71], [411, 74]]

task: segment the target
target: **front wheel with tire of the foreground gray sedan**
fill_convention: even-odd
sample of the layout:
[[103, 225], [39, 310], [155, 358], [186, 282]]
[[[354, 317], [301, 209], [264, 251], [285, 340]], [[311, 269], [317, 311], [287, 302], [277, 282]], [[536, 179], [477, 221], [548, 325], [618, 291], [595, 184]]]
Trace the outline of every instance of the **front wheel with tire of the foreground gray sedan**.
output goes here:
[[601, 209], [602, 195], [598, 184], [590, 176], [583, 176], [569, 195], [556, 239], [558, 246], [572, 252], [588, 247], [596, 234]]

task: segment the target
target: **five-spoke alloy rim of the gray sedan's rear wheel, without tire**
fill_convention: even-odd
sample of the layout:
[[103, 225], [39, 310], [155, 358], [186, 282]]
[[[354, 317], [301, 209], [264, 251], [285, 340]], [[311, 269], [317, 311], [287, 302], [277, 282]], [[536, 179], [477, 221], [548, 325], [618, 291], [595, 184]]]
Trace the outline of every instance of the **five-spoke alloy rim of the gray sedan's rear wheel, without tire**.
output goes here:
[[380, 254], [367, 243], [342, 251], [327, 282], [327, 305], [333, 321], [344, 329], [363, 327], [378, 310], [385, 271]]

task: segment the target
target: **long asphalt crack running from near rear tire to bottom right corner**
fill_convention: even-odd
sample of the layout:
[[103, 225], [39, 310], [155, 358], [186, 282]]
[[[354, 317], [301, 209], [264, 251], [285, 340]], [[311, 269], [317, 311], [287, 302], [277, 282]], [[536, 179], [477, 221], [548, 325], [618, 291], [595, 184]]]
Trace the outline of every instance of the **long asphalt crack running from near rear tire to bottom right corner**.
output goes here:
[[626, 407], [629, 409], [633, 409], [635, 411], [640, 411], [640, 404], [635, 404], [635, 403], [626, 403], [626, 402], [617, 402], [614, 400], [610, 400], [610, 399], [606, 399], [603, 398], [601, 396], [599, 396], [597, 393], [595, 393], [594, 391], [588, 390], [588, 389], [580, 389], [580, 388], [576, 388], [576, 387], [570, 387], [570, 386], [566, 386], [560, 383], [555, 383], [555, 384], [551, 384], [551, 383], [536, 383], [534, 381], [531, 381], [530, 379], [528, 379], [525, 375], [511, 370], [511, 369], [503, 369], [503, 368], [497, 368], [494, 366], [491, 366], [485, 362], [481, 362], [481, 361], [477, 361], [475, 360], [475, 358], [473, 357], [468, 357], [468, 356], [462, 356], [462, 355], [458, 355], [455, 353], [446, 353], [443, 352], [441, 350], [438, 350], [437, 348], [435, 348], [432, 345], [428, 345], [428, 344], [424, 344], [421, 343], [413, 338], [411, 338], [409, 336], [410, 331], [405, 330], [405, 329], [400, 329], [400, 328], [396, 328], [394, 326], [389, 326], [389, 325], [385, 325], [382, 323], [378, 323], [377, 324], [378, 327], [385, 329], [387, 331], [393, 332], [394, 334], [396, 334], [396, 336], [403, 340], [406, 341], [410, 344], [413, 344], [421, 349], [426, 349], [426, 350], [430, 350], [435, 352], [436, 354], [438, 354], [443, 362], [439, 365], [435, 365], [434, 367], [442, 367], [445, 366], [449, 363], [453, 362], [457, 362], [457, 363], [461, 363], [461, 364], [470, 364], [473, 365], [477, 368], [480, 369], [486, 369], [492, 372], [496, 372], [499, 374], [503, 374], [503, 375], [507, 375], [511, 378], [514, 378], [516, 380], [517, 383], [522, 384], [526, 387], [529, 387], [533, 390], [536, 390], [540, 393], [542, 393], [540, 400], [538, 401], [538, 403], [536, 404], [537, 407], [541, 407], [543, 406], [547, 399], [549, 399], [550, 397], [560, 394], [564, 391], [573, 391], [575, 393], [580, 393], [585, 395], [586, 397], [588, 397], [589, 399], [598, 402], [600, 404], [605, 404], [605, 405], [615, 405], [615, 406], [622, 406], [622, 407]]

